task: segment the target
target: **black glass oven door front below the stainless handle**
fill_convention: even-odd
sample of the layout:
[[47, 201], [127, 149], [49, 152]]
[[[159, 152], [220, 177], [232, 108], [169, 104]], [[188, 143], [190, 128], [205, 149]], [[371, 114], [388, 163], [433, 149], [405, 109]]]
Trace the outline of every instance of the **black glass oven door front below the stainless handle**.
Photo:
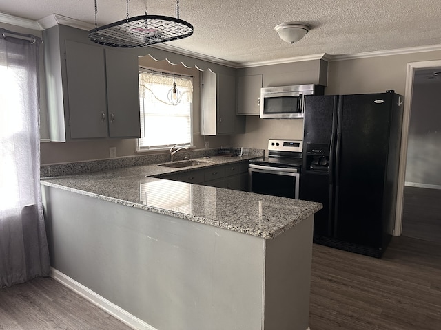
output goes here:
[[298, 173], [271, 173], [250, 170], [250, 191], [258, 194], [298, 199]]

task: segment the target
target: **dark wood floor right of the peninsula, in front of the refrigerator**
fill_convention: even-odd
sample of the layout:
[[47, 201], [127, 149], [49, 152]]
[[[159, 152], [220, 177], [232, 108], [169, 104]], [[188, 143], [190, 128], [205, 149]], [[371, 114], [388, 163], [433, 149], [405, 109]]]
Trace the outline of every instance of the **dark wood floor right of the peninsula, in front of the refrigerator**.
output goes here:
[[441, 244], [393, 237], [382, 259], [314, 245], [311, 330], [441, 329]]

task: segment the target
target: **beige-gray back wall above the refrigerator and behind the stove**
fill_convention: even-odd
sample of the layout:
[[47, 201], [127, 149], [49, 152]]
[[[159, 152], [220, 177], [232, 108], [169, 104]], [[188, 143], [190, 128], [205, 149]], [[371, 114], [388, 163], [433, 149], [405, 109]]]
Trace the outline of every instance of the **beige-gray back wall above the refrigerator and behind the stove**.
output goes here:
[[[325, 94], [378, 93], [393, 89], [396, 93], [404, 95], [407, 63], [440, 58], [441, 51], [433, 51], [329, 61]], [[232, 145], [266, 149], [268, 139], [302, 137], [302, 120], [247, 117], [245, 134], [232, 137]]]

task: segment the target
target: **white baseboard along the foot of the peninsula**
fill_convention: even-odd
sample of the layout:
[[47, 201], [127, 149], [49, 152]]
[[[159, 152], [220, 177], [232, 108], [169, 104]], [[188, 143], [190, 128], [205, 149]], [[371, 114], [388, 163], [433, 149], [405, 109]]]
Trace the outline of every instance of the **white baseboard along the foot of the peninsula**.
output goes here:
[[125, 311], [118, 305], [115, 305], [99, 294], [96, 294], [96, 292], [93, 292], [88, 287], [85, 287], [81, 283], [76, 282], [74, 279], [52, 267], [50, 267], [50, 277], [135, 330], [157, 330], [143, 320], [136, 318], [136, 316], [133, 316], [128, 311]]

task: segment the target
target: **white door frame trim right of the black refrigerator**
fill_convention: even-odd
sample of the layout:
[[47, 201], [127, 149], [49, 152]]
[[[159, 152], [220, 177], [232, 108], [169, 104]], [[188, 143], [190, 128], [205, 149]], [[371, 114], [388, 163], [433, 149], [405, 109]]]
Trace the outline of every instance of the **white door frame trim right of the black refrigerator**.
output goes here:
[[409, 137], [409, 124], [411, 118], [411, 105], [413, 95], [413, 78], [418, 69], [430, 69], [431, 67], [441, 67], [441, 60], [421, 61], [407, 63], [406, 89], [404, 90], [404, 112], [402, 118], [401, 150], [400, 150], [400, 169], [398, 171], [398, 191], [395, 228], [393, 236], [400, 236], [402, 232], [402, 210], [404, 204], [404, 181], [406, 177], [407, 159], [407, 139]]

